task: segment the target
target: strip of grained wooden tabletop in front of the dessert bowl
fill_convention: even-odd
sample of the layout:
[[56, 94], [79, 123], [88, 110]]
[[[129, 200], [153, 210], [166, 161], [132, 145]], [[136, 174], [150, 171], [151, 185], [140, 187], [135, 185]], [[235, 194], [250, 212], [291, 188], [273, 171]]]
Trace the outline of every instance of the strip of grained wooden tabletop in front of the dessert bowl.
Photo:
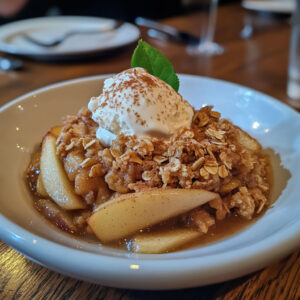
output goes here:
[[264, 299], [300, 297], [300, 251], [254, 274], [225, 283], [176, 291], [103, 287], [47, 270], [0, 244], [0, 300], [9, 299]]

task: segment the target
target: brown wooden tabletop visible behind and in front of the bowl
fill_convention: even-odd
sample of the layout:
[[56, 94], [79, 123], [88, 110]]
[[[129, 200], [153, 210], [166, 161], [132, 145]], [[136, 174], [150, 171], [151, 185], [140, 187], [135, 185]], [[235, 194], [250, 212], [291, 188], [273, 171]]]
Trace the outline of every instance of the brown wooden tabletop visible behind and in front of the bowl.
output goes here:
[[[198, 34], [199, 13], [162, 22]], [[254, 34], [240, 38], [245, 22]], [[239, 4], [221, 6], [216, 40], [221, 56], [193, 57], [184, 45], [144, 40], [163, 52], [178, 73], [204, 75], [246, 85], [288, 103], [286, 95], [290, 25], [263, 19]], [[132, 49], [85, 62], [42, 63], [24, 60], [24, 70], [0, 73], [0, 105], [36, 88], [66, 79], [120, 72], [129, 67]], [[1, 226], [1, 225], [0, 225]], [[179, 291], [134, 291], [78, 281], [49, 271], [0, 242], [0, 299], [300, 299], [300, 251], [254, 274], [211, 286]]]

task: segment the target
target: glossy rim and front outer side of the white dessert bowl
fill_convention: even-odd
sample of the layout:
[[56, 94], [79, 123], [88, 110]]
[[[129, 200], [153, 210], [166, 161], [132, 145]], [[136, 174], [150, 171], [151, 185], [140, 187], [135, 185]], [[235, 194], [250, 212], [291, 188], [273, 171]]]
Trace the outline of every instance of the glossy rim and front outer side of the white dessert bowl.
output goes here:
[[[111, 74], [86, 76], [41, 87], [4, 104], [0, 107], [0, 114], [9, 107], [12, 107], [17, 103], [26, 100], [32, 95], [42, 93], [54, 88], [59, 88], [65, 85], [103, 79], [110, 75]], [[246, 88], [247, 90], [253, 91], [256, 94], [263, 96], [264, 101], [271, 102], [271, 104], [274, 105], [275, 100], [276, 105], [279, 105], [279, 107], [288, 110], [289, 113], [295, 114], [295, 116], [297, 117], [300, 116], [297, 111], [280, 102], [279, 100], [239, 84], [197, 75], [180, 74], [180, 77], [201, 78], [204, 80], [218, 81], [229, 84], [235, 88]], [[88, 280], [95, 283], [103, 282], [105, 285], [114, 287], [135, 289], [186, 288], [233, 279], [265, 267], [269, 263], [282, 258], [288, 253], [297, 249], [300, 244], [299, 219], [289, 226], [285, 226], [282, 229], [278, 230], [273, 235], [266, 237], [264, 240], [258, 241], [252, 245], [247, 245], [243, 248], [238, 248], [237, 250], [231, 249], [225, 251], [222, 254], [217, 253], [199, 257], [192, 256], [185, 258], [167, 259], [165, 259], [164, 257], [168, 254], [139, 254], [116, 257], [91, 253], [80, 249], [74, 249], [72, 247], [50, 241], [22, 228], [21, 226], [10, 221], [1, 213], [0, 223], [3, 225], [0, 228], [1, 239], [15, 248], [17, 251], [29, 257], [31, 260], [43, 266], [78, 279]], [[47, 260], [45, 260], [44, 256], [41, 255], [39, 247], [32, 247], [33, 243], [38, 244], [41, 249], [51, 249], [51, 251], [49, 251]], [[241, 249], [245, 251], [240, 251]], [[62, 257], [61, 253], [64, 253]], [[149, 259], [144, 259], [145, 256], [147, 256]], [[77, 261], [74, 264], [74, 259], [76, 257], [80, 257], [80, 262]], [[52, 263], [50, 263], [50, 261]], [[55, 261], [55, 263], [53, 263], [53, 261]], [[170, 262], [173, 262], [173, 264], [170, 264]], [[132, 270], [130, 267], [132, 265], [138, 265], [139, 267], [138, 269]], [[74, 267], [80, 267], [82, 275], [74, 275], [74, 273], [70, 272], [70, 270], [74, 270]], [[157, 274], [158, 269], [159, 276]], [[230, 272], [228, 271], [229, 269]], [[90, 276], [88, 274], [89, 271], [92, 271]], [[95, 276], [99, 274], [99, 271], [101, 272], [102, 277], [99, 276], [100, 281], [97, 281], [95, 280]], [[103, 278], [103, 273], [105, 272], [107, 272], [107, 274], [109, 275], [116, 275], [116, 272], [118, 272], [118, 276], [116, 276], [115, 279], [110, 278], [110, 280], [107, 281], [105, 280], [105, 278]], [[128, 275], [129, 272], [131, 275]], [[200, 276], [204, 273], [209, 274], [206, 280], [203, 280], [203, 278]], [[121, 278], [122, 276], [127, 276], [127, 281], [125, 283], [120, 282], [119, 278]], [[179, 277], [186, 277], [186, 279], [181, 282], [178, 280], [176, 281], [176, 279]], [[142, 279], [144, 281], [145, 279], [149, 279], [150, 282], [143, 283]], [[174, 280], [174, 282], [177, 282], [176, 286], [170, 283], [170, 281], [172, 280]], [[141, 285], [137, 286], [137, 282], [139, 282]]]

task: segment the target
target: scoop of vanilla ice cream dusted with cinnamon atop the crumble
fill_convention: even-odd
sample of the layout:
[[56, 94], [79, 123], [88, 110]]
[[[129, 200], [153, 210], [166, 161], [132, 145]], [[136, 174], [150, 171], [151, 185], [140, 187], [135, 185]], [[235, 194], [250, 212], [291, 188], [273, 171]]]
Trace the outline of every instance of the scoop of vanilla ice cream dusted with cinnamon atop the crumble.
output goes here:
[[97, 138], [111, 145], [118, 134], [169, 137], [191, 126], [193, 108], [174, 89], [143, 68], [125, 70], [104, 81], [89, 104], [99, 124]]

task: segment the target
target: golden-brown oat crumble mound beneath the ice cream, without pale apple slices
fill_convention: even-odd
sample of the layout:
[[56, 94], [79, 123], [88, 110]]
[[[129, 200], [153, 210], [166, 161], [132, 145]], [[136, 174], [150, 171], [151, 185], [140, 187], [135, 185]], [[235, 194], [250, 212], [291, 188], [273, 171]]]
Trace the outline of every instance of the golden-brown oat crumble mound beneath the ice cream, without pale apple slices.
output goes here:
[[56, 148], [75, 193], [88, 205], [152, 188], [205, 189], [221, 198], [184, 217], [207, 232], [216, 219], [231, 213], [251, 219], [267, 203], [268, 158], [211, 106], [195, 111], [191, 129], [170, 139], [119, 135], [106, 148], [96, 130], [90, 112], [81, 109], [65, 118]]

